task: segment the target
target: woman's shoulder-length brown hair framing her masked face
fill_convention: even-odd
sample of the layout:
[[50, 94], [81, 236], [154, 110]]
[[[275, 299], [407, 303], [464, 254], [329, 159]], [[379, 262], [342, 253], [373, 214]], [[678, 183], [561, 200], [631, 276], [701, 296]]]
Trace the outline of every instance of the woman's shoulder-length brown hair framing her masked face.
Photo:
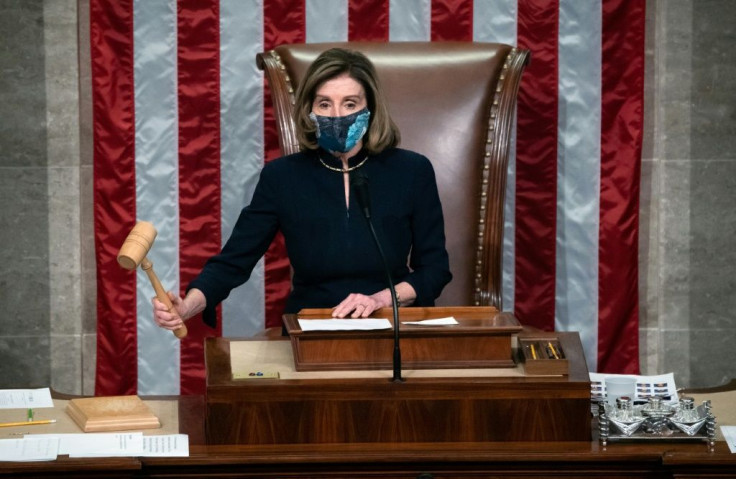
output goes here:
[[363, 137], [363, 146], [373, 154], [397, 146], [401, 141], [401, 135], [388, 113], [386, 98], [378, 81], [376, 69], [362, 53], [343, 48], [331, 48], [322, 52], [309, 66], [297, 89], [294, 122], [299, 145], [302, 149], [318, 148], [317, 128], [309, 118], [314, 97], [324, 82], [343, 74], [360, 83], [365, 90], [371, 118], [368, 131]]

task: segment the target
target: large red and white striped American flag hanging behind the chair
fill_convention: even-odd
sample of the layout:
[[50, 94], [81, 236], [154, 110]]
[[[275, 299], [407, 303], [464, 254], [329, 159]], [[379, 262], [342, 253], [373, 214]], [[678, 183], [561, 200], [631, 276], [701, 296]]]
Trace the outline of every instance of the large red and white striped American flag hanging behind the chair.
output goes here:
[[136, 220], [183, 292], [279, 155], [255, 56], [283, 43], [482, 41], [528, 48], [509, 167], [504, 310], [579, 331], [591, 371], [637, 373], [644, 0], [90, 0], [96, 394], [204, 391], [203, 339], [280, 325], [276, 241], [181, 342], [117, 252]]

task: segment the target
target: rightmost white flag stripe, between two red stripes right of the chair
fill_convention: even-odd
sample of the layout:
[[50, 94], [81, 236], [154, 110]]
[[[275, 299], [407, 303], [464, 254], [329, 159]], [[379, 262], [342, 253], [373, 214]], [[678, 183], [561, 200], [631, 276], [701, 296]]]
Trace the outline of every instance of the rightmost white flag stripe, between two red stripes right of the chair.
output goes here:
[[597, 366], [600, 1], [560, 1], [555, 329], [579, 331]]

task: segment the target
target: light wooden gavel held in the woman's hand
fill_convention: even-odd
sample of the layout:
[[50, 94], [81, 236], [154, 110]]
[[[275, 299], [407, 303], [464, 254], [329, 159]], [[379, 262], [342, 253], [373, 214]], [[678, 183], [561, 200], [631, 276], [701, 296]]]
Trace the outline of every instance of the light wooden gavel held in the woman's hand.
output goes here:
[[[166, 294], [164, 287], [161, 286], [161, 281], [158, 280], [158, 276], [153, 271], [153, 263], [146, 257], [151, 250], [151, 246], [153, 246], [153, 240], [156, 239], [156, 235], [156, 228], [151, 223], [147, 221], [136, 223], [133, 229], [130, 230], [130, 233], [128, 233], [128, 237], [125, 238], [123, 246], [120, 247], [118, 263], [124, 269], [130, 271], [135, 270], [140, 265], [141, 269], [148, 275], [148, 279], [151, 281], [154, 291], [156, 291], [158, 300], [169, 308], [170, 313], [178, 316], [179, 313], [174, 308], [169, 295]], [[179, 329], [174, 330], [174, 335], [179, 339], [186, 336], [186, 325], [182, 323]]]

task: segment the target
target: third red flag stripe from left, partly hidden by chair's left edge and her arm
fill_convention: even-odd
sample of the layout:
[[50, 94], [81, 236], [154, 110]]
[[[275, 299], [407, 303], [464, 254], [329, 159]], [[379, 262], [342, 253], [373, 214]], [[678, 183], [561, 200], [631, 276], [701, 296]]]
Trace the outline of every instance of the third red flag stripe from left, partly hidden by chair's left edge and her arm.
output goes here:
[[[303, 1], [268, 0], [263, 2], [263, 48], [268, 51], [285, 43], [303, 43], [306, 37], [306, 12]], [[265, 161], [281, 156], [268, 84], [264, 85], [263, 149]], [[265, 309], [267, 328], [280, 327], [286, 298], [291, 288], [291, 267], [284, 238], [279, 233], [265, 255]]]

